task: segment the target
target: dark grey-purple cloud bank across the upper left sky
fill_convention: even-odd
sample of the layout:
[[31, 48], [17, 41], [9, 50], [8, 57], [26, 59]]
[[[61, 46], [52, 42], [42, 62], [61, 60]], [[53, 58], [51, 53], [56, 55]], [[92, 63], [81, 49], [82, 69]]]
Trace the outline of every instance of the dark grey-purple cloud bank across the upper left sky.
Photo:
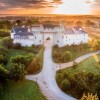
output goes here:
[[0, 0], [0, 9], [39, 9], [45, 7], [52, 7], [52, 3], [46, 0]]

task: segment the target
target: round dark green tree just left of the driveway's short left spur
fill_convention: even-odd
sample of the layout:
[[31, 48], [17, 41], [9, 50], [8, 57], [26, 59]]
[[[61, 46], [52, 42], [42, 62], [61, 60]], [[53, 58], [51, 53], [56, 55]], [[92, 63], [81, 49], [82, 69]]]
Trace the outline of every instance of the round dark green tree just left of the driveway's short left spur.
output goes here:
[[11, 80], [19, 81], [23, 80], [26, 74], [25, 66], [22, 64], [14, 63], [12, 64], [12, 69], [10, 70], [9, 76]]

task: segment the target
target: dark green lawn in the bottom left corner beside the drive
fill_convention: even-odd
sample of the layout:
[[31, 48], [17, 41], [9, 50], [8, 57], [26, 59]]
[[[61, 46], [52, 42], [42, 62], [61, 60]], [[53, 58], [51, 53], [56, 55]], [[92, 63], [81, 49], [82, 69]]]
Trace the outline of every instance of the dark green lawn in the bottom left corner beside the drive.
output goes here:
[[5, 84], [0, 94], [0, 100], [46, 100], [37, 83], [29, 80]]

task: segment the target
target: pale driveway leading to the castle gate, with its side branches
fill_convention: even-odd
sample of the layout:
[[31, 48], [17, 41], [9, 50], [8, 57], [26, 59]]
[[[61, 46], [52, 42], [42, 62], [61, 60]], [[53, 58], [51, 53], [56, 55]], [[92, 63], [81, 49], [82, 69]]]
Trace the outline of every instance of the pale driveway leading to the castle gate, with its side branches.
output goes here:
[[[100, 53], [100, 51], [84, 55], [82, 57], [77, 58], [76, 61], [79, 63], [82, 60], [92, 56], [93, 54], [98, 53]], [[52, 45], [49, 42], [47, 42], [45, 44], [42, 71], [37, 75], [27, 75], [26, 79], [36, 81], [39, 84], [42, 93], [46, 96], [48, 100], [75, 100], [75, 98], [62, 92], [57, 86], [55, 80], [57, 70], [70, 67], [72, 65], [73, 62], [65, 64], [55, 64], [52, 60]]]

